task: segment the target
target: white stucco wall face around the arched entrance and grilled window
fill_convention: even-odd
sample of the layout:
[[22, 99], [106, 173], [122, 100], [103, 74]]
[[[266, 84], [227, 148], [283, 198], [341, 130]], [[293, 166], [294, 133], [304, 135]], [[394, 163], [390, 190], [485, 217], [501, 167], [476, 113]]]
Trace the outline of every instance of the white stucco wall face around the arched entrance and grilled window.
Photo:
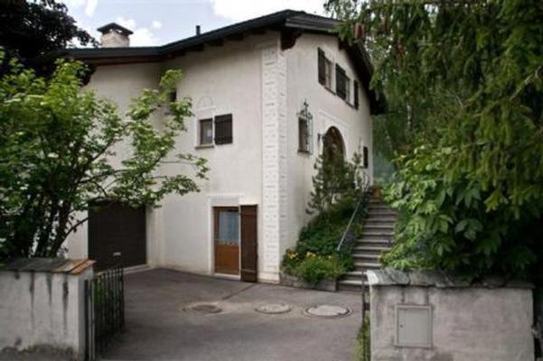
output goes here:
[[[324, 88], [318, 82], [317, 49], [321, 48], [329, 60], [332, 60], [335, 76], [335, 64], [346, 70], [347, 76], [359, 82], [359, 109], [355, 109]], [[313, 188], [314, 162], [323, 152], [322, 136], [335, 126], [342, 134], [347, 158], [353, 153], [361, 153], [361, 147], [369, 149], [369, 168], [367, 174], [373, 174], [371, 158], [371, 118], [369, 100], [361, 86], [356, 70], [346, 51], [341, 50], [338, 38], [314, 34], [302, 34], [295, 47], [285, 51], [287, 61], [287, 218], [288, 232], [286, 242], [281, 245], [281, 252], [295, 245], [300, 229], [310, 216], [306, 213], [309, 193]], [[332, 89], [335, 80], [332, 76]], [[351, 91], [352, 93], [352, 91]], [[352, 96], [351, 96], [352, 97]], [[304, 101], [313, 115], [313, 153], [298, 153], [298, 116]], [[319, 136], [321, 134], [321, 136]]]

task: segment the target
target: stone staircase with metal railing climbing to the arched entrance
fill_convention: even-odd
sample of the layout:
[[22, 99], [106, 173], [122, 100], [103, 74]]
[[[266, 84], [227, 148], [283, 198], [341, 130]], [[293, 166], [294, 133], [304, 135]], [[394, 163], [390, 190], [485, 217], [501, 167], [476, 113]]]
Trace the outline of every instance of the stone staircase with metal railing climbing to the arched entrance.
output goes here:
[[392, 245], [395, 222], [396, 211], [385, 205], [381, 199], [371, 196], [362, 236], [352, 249], [355, 270], [345, 274], [339, 281], [340, 291], [360, 292], [362, 273], [379, 269], [379, 255], [389, 250]]

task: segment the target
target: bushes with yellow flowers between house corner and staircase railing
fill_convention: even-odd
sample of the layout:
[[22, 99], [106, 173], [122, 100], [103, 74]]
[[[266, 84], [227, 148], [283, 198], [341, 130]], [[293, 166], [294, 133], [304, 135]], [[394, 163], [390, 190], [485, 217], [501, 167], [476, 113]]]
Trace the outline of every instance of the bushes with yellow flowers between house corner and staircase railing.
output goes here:
[[[338, 278], [354, 266], [350, 249], [337, 248], [367, 180], [360, 168], [360, 155], [352, 162], [342, 157], [321, 156], [315, 163], [314, 191], [309, 212], [317, 215], [300, 231], [294, 250], [283, 259], [283, 271], [316, 283], [323, 278]], [[347, 236], [359, 237], [365, 209], [359, 208]]]

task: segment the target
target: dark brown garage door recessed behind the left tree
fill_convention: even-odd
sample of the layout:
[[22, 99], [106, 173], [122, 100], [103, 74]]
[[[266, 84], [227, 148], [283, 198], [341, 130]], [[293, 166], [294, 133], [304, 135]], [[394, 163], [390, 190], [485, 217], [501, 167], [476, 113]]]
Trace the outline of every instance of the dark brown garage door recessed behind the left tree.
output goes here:
[[145, 208], [130, 208], [120, 203], [89, 212], [89, 258], [101, 271], [120, 261], [124, 267], [147, 262]]

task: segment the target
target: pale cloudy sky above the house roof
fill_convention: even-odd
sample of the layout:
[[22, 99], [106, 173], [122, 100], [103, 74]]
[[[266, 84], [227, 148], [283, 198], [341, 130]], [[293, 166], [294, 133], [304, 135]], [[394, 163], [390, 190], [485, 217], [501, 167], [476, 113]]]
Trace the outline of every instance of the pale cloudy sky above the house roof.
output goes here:
[[162, 45], [276, 11], [324, 14], [324, 0], [65, 0], [69, 14], [97, 40], [96, 29], [118, 23], [132, 30], [130, 46]]

